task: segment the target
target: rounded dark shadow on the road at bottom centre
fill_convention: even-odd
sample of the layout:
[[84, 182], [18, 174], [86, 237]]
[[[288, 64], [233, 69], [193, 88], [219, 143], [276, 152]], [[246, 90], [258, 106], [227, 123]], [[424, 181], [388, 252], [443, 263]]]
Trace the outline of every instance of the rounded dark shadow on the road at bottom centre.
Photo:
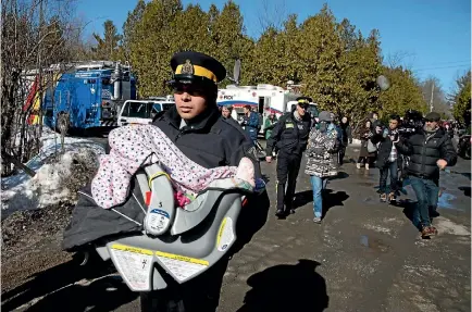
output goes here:
[[319, 265], [316, 261], [299, 260], [295, 265], [281, 264], [256, 273], [247, 280], [252, 289], [237, 311], [323, 311], [330, 297], [323, 276], [315, 272]]

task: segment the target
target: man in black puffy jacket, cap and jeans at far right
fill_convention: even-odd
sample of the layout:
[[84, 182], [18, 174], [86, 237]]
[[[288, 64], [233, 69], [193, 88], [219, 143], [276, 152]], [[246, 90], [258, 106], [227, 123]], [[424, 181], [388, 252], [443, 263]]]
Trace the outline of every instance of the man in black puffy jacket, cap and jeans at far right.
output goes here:
[[438, 127], [439, 120], [438, 113], [428, 113], [422, 130], [412, 135], [405, 143], [397, 143], [398, 150], [411, 155], [407, 170], [417, 194], [423, 237], [437, 234], [437, 229], [431, 225], [430, 211], [434, 211], [437, 205], [439, 170], [457, 162], [456, 149], [446, 132]]

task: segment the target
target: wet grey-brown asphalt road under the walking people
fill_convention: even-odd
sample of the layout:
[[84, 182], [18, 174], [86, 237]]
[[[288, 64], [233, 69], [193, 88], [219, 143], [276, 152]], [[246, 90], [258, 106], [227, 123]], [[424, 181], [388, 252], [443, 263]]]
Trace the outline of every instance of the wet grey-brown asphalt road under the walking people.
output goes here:
[[[349, 148], [347, 159], [357, 152]], [[454, 170], [442, 174], [440, 216], [433, 222], [439, 234], [421, 239], [407, 216], [411, 189], [398, 207], [381, 203], [378, 171], [353, 163], [330, 180], [322, 224], [312, 222], [302, 170], [296, 213], [277, 220], [275, 163], [262, 163], [271, 208], [229, 261], [219, 311], [471, 311], [470, 161], [459, 160]], [[28, 278], [16, 272], [17, 286], [2, 294], [4, 311], [139, 311], [137, 295], [119, 279], [79, 272], [54, 242], [35, 252], [24, 261], [36, 272]], [[37, 259], [44, 264], [35, 265]]]

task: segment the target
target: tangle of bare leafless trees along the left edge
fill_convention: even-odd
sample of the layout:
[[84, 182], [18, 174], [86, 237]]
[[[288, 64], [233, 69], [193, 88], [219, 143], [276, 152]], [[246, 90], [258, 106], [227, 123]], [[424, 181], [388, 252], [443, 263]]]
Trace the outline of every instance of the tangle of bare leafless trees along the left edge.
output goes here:
[[[1, 154], [16, 163], [28, 160], [40, 148], [41, 98], [54, 84], [51, 64], [74, 58], [72, 23], [74, 10], [67, 1], [17, 1], [1, 3]], [[77, 27], [77, 28], [75, 28]], [[33, 91], [32, 91], [33, 90]], [[33, 92], [39, 105], [27, 101]], [[39, 116], [30, 125], [32, 115]], [[2, 161], [2, 175], [12, 167]]]

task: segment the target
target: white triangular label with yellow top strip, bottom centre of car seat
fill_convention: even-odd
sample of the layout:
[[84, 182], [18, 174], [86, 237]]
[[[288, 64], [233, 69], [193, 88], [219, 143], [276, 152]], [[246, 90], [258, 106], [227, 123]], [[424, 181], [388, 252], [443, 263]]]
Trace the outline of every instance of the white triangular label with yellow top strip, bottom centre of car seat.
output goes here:
[[178, 280], [185, 280], [208, 267], [209, 262], [173, 253], [156, 251], [156, 255]]

